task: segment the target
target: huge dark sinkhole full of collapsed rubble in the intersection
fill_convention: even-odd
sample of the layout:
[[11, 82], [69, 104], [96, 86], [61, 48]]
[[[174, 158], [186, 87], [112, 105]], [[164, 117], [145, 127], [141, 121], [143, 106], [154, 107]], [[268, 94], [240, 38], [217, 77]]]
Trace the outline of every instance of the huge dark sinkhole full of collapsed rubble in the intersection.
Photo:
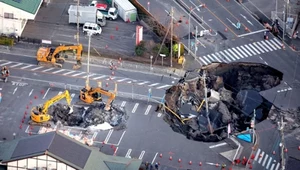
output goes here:
[[[250, 126], [254, 112], [256, 122], [268, 117], [272, 103], [259, 92], [279, 85], [282, 77], [278, 70], [258, 63], [213, 63], [189, 71], [166, 91], [164, 120], [189, 139], [222, 140], [228, 124], [232, 133], [240, 132]], [[207, 108], [202, 102], [205, 84]]]

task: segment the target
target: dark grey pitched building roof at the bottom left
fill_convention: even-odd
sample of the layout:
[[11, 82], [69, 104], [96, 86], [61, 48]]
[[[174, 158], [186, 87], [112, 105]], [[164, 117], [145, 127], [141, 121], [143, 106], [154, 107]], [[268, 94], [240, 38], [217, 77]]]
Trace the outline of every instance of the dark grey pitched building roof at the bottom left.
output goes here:
[[105, 155], [60, 132], [2, 142], [0, 145], [2, 163], [45, 154], [79, 170], [137, 170], [142, 163], [139, 159]]

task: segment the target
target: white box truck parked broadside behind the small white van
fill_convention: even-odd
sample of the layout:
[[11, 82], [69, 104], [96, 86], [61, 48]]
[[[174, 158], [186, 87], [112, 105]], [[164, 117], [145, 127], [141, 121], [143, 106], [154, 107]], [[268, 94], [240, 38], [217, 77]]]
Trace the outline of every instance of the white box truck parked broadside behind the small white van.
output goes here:
[[[76, 24], [77, 23], [77, 6], [70, 5], [68, 14], [69, 14], [69, 23]], [[79, 16], [78, 16], [79, 24], [84, 24], [86, 22], [89, 22], [89, 23], [97, 23], [102, 27], [106, 25], [106, 18], [95, 7], [78, 6], [78, 14], [79, 14]]]

